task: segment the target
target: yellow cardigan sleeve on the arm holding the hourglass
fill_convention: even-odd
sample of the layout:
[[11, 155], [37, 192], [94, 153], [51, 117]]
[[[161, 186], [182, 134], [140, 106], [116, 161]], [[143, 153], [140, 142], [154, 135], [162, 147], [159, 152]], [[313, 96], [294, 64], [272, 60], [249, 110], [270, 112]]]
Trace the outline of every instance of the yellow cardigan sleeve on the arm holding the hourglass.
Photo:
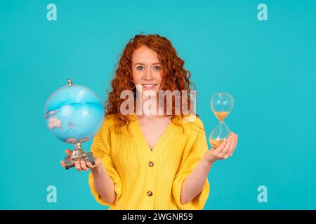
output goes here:
[[184, 152], [184, 160], [180, 162], [180, 167], [173, 181], [172, 188], [173, 197], [175, 198], [176, 204], [178, 205], [179, 209], [202, 210], [207, 198], [209, 197], [209, 181], [206, 178], [204, 187], [199, 195], [195, 196], [195, 198], [193, 198], [190, 202], [187, 202], [185, 204], [180, 203], [183, 182], [185, 181], [187, 176], [191, 174], [193, 169], [195, 169], [199, 161], [202, 160], [203, 155], [207, 150], [209, 149], [207, 146], [205, 132], [203, 131], [197, 134], [195, 142], [192, 144], [190, 151]]

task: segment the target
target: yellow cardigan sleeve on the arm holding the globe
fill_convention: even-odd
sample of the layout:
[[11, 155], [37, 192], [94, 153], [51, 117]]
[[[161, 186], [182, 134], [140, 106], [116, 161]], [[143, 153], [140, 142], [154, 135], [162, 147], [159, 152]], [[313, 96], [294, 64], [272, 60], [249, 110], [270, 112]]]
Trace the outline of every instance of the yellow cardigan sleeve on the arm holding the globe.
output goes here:
[[105, 170], [111, 177], [114, 183], [114, 190], [116, 193], [116, 199], [114, 204], [109, 204], [103, 200], [103, 198], [96, 192], [94, 187], [93, 175], [92, 173], [88, 176], [88, 184], [92, 195], [96, 198], [96, 201], [105, 206], [113, 206], [117, 204], [119, 197], [121, 197], [121, 178], [112, 160], [110, 153], [111, 149], [111, 136], [110, 136], [110, 123], [105, 118], [100, 131], [96, 134], [91, 145], [91, 152], [95, 158], [100, 158], [102, 160]]

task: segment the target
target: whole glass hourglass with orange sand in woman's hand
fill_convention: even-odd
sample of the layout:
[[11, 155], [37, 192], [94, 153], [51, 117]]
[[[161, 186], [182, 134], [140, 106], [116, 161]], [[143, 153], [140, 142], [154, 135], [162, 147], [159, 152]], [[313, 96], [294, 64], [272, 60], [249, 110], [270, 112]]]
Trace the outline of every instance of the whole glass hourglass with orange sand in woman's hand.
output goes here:
[[224, 120], [232, 111], [234, 99], [228, 92], [216, 92], [211, 97], [211, 109], [220, 123], [216, 125], [209, 135], [209, 143], [212, 148], [217, 148], [230, 135], [230, 130], [225, 125]]

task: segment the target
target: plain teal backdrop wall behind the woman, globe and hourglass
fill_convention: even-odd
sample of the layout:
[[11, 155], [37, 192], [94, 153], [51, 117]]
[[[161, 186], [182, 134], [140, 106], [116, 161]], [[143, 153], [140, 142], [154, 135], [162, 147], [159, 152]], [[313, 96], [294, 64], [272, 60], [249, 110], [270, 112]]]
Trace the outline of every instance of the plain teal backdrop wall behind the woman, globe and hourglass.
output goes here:
[[[55, 3], [57, 21], [46, 6]], [[268, 21], [257, 19], [259, 3]], [[65, 171], [70, 147], [47, 130], [44, 106], [67, 78], [102, 99], [135, 34], [169, 38], [197, 86], [206, 136], [209, 99], [230, 92], [232, 158], [211, 168], [204, 209], [316, 209], [315, 1], [0, 1], [0, 209], [107, 209], [88, 173]], [[91, 141], [84, 144], [89, 151]], [[57, 203], [46, 202], [56, 186]], [[267, 186], [268, 202], [257, 200]]]

